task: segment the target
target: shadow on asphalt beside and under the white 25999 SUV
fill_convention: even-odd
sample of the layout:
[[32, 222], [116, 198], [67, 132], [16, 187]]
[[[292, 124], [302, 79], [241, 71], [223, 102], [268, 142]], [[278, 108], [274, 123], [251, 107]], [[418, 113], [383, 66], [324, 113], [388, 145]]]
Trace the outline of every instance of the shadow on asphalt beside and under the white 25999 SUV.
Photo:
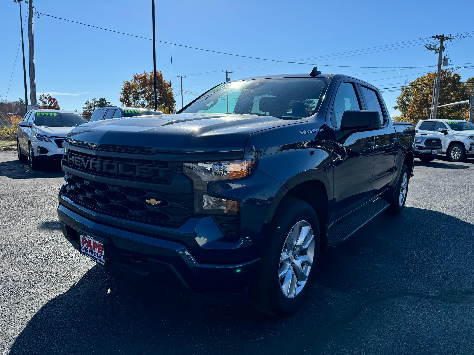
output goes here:
[[18, 160], [0, 162], [0, 176], [11, 179], [37, 179], [42, 177], [63, 177], [60, 163], [47, 162], [41, 170], [31, 170], [27, 163]]

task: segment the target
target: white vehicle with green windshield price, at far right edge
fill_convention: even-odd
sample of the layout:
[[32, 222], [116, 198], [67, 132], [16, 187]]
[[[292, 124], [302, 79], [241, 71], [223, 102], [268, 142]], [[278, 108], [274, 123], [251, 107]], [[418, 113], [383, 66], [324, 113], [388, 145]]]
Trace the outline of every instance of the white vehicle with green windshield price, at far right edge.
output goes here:
[[435, 135], [441, 139], [441, 154], [451, 161], [474, 158], [474, 124], [461, 120], [420, 120], [415, 127], [418, 134]]

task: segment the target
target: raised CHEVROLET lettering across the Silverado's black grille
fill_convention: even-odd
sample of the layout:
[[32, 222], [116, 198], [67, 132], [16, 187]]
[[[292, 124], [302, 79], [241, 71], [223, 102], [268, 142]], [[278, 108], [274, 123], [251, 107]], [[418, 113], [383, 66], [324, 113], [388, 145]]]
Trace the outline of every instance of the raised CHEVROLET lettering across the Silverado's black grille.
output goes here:
[[91, 171], [103, 171], [107, 173], [117, 173], [124, 175], [145, 176], [145, 177], [164, 177], [165, 170], [171, 170], [165, 167], [152, 167], [147, 165], [138, 165], [132, 163], [118, 163], [115, 161], [95, 160], [86, 157], [80, 157], [74, 154], [67, 154], [69, 166], [77, 166]]

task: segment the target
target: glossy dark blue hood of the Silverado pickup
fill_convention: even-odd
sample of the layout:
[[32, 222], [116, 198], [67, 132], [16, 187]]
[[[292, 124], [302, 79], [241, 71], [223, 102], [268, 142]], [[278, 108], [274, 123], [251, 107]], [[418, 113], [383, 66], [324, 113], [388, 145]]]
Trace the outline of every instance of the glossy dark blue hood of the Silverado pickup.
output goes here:
[[252, 133], [307, 119], [265, 115], [174, 114], [123, 117], [73, 128], [68, 142], [104, 150], [148, 153], [238, 152]]

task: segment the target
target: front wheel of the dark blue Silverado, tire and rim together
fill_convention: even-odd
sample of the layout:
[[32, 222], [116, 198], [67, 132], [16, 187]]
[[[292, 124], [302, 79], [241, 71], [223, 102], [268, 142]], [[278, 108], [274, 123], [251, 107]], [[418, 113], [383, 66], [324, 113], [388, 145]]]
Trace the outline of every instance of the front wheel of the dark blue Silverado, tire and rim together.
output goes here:
[[304, 201], [286, 197], [279, 205], [248, 302], [258, 311], [281, 317], [301, 307], [319, 260], [319, 222]]

